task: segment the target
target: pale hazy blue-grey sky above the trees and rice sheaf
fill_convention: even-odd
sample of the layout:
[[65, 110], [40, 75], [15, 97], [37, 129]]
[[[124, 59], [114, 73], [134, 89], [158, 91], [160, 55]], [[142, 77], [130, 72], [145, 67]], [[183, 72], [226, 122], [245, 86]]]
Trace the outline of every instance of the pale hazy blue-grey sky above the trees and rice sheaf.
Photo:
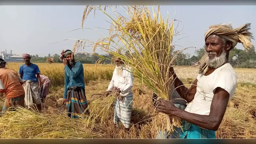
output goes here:
[[[94, 30], [70, 30], [81, 28], [82, 16], [85, 6], [0, 6], [0, 51], [21, 55], [29, 53], [46, 56], [48, 53], [55, 54], [64, 49], [73, 49], [76, 41], [67, 38], [88, 39], [97, 41], [102, 36]], [[183, 35], [176, 36], [173, 44], [176, 50], [186, 47], [196, 47], [199, 49], [204, 46], [204, 33], [209, 26], [220, 23], [231, 22], [233, 28], [237, 28], [244, 23], [251, 24], [251, 32], [256, 35], [256, 6], [161, 6], [161, 14], [169, 19], [182, 21], [178, 30], [182, 30]], [[152, 8], [150, 9], [152, 10]], [[110, 9], [108, 10], [111, 11]], [[122, 13], [120, 8], [118, 12]], [[94, 28], [103, 34], [108, 31], [95, 27], [109, 28], [105, 21], [108, 18], [100, 12], [88, 16], [84, 27]], [[67, 33], [68, 32], [68, 33]], [[182, 38], [183, 37], [183, 38]], [[182, 38], [182, 39], [180, 39]], [[180, 40], [178, 40], [180, 39]], [[55, 42], [60, 42], [52, 44]], [[252, 40], [255, 44], [256, 40]], [[242, 44], [237, 44], [239, 49], [244, 49]], [[194, 55], [195, 48], [189, 48], [184, 53]], [[87, 47], [84, 52], [92, 52], [92, 48]], [[96, 51], [99, 52], [100, 51]]]

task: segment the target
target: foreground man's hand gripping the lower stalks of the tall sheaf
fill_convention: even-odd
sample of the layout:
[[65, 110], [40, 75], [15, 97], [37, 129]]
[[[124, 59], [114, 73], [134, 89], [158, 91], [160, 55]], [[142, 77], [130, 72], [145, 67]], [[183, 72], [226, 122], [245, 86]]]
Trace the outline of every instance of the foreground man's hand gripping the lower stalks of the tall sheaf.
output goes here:
[[156, 109], [159, 112], [163, 112], [165, 114], [173, 115], [173, 112], [176, 110], [174, 103], [168, 100], [157, 100], [156, 102]]

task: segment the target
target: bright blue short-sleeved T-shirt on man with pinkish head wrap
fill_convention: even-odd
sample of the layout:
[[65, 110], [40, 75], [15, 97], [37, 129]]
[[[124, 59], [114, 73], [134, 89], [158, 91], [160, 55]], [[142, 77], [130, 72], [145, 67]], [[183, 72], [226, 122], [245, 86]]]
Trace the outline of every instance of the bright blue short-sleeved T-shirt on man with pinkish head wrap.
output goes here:
[[36, 64], [31, 63], [29, 66], [23, 64], [20, 66], [19, 73], [22, 74], [23, 80], [37, 82], [36, 74], [40, 73], [40, 70]]

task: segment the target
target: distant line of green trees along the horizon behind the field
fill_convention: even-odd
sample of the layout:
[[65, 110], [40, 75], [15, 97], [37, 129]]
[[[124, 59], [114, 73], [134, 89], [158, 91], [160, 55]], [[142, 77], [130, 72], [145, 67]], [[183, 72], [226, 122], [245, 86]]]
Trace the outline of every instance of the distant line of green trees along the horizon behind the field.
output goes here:
[[[130, 55], [129, 52], [125, 52], [127, 56]], [[198, 60], [202, 58], [202, 56], [205, 54], [205, 46], [203, 48], [200, 48], [199, 50], [195, 51], [195, 55], [190, 57], [190, 54], [184, 54], [183, 52], [179, 52], [177, 56], [177, 60], [175, 61], [175, 65], [179, 66], [191, 66], [195, 65]], [[100, 57], [108, 58], [110, 60], [102, 60], [101, 64], [110, 64], [111, 58], [113, 55], [111, 54], [103, 54], [100, 55], [98, 53], [95, 53], [95, 55], [88, 54], [88, 53], [76, 53], [75, 59], [76, 61], [79, 61], [81, 63], [86, 64], [95, 64]], [[39, 57], [38, 54], [32, 55], [32, 61], [33, 62], [46, 62], [47, 58], [53, 58], [55, 63], [62, 63], [60, 60], [59, 54], [48, 54], [48, 56], [45, 57]], [[256, 68], [256, 52], [255, 48], [252, 48], [248, 52], [244, 50], [237, 49], [236, 47], [229, 52], [229, 63], [236, 68]]]

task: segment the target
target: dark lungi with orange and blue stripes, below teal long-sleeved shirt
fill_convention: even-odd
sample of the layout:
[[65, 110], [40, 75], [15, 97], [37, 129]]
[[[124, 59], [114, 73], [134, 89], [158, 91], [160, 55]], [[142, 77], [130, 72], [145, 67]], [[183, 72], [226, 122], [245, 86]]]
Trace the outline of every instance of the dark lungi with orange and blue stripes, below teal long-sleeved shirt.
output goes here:
[[[78, 118], [88, 107], [85, 90], [81, 87], [71, 86], [68, 88], [66, 107], [68, 117]], [[87, 113], [85, 113], [87, 114]]]

